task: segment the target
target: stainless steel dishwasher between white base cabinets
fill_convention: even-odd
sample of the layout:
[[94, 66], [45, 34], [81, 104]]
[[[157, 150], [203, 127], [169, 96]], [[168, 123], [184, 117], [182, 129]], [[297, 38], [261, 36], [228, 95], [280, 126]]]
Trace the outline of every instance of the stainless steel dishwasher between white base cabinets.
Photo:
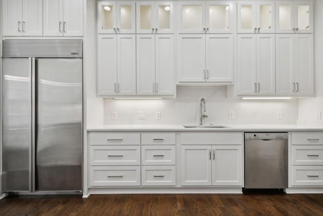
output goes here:
[[288, 133], [245, 133], [245, 189], [288, 187]]

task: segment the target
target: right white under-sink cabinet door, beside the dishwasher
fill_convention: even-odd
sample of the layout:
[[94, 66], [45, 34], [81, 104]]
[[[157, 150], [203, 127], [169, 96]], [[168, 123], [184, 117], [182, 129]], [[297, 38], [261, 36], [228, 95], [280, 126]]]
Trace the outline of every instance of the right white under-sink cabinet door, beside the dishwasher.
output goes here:
[[242, 146], [212, 146], [212, 185], [243, 186]]

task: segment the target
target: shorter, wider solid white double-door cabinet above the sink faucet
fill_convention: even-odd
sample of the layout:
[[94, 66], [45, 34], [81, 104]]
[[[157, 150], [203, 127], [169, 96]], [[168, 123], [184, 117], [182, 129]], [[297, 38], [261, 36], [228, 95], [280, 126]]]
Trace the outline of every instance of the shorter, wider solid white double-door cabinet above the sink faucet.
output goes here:
[[179, 82], [232, 82], [232, 34], [178, 35]]

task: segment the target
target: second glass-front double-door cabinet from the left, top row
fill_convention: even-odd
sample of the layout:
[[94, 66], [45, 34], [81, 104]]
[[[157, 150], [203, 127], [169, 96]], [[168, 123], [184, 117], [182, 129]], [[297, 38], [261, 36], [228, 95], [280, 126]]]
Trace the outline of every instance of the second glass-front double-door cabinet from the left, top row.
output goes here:
[[137, 2], [137, 33], [174, 33], [172, 2]]

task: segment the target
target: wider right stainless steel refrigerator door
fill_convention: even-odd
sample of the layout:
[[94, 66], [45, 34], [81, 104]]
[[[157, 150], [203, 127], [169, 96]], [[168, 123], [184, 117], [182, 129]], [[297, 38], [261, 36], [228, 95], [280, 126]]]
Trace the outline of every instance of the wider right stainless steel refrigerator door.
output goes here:
[[36, 191], [82, 190], [82, 59], [36, 59]]

